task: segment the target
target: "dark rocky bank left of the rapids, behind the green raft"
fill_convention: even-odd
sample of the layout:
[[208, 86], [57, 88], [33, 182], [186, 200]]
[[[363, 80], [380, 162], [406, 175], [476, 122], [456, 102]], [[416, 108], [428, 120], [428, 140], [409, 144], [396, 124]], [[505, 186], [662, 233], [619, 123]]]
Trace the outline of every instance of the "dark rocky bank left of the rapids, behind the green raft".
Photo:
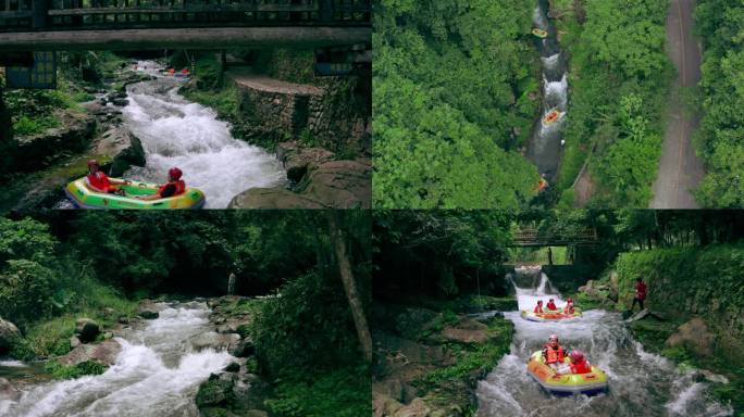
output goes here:
[[16, 161], [17, 172], [3, 185], [0, 211], [49, 208], [64, 198], [64, 186], [87, 172], [86, 162], [97, 159], [110, 176], [121, 176], [132, 165], [145, 164], [137, 137], [122, 126], [121, 108], [127, 104], [124, 88], [151, 76], [128, 68], [113, 74], [94, 101], [76, 110], [55, 113], [60, 126], [32, 136], [13, 137], [4, 143]]

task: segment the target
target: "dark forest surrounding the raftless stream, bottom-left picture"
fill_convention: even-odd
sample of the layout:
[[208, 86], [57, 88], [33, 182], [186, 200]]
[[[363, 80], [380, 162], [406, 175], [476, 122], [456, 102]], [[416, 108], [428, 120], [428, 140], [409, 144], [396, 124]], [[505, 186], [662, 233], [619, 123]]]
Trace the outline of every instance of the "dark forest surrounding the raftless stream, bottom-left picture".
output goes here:
[[347, 275], [368, 305], [370, 219], [349, 212], [331, 224], [328, 216], [51, 212], [2, 218], [0, 316], [23, 332], [10, 354], [24, 361], [64, 355], [77, 317], [106, 326], [132, 316], [145, 298], [222, 295], [234, 274], [237, 294], [281, 294], [256, 299], [248, 330], [257, 369], [274, 384], [271, 409], [287, 416], [369, 414], [367, 362], [337, 249], [342, 242]]

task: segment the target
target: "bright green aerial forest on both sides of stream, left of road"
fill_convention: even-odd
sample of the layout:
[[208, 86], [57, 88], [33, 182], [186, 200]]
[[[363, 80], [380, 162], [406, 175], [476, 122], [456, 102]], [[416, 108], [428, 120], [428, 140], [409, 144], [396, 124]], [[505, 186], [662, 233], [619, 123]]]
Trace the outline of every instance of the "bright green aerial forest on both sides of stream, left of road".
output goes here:
[[[550, 2], [570, 110], [553, 197], [588, 160], [602, 205], [645, 207], [673, 75], [667, 4]], [[518, 207], [536, 192], [520, 148], [537, 117], [535, 1], [382, 1], [375, 10], [374, 199], [381, 207]], [[538, 201], [540, 202], [540, 201]]]

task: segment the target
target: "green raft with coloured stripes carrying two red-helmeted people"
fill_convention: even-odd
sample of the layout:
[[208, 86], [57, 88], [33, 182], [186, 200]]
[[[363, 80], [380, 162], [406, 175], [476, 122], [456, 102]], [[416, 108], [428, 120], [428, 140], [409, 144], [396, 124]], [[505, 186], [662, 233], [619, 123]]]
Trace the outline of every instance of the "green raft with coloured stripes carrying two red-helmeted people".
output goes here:
[[[111, 178], [121, 181], [119, 178]], [[185, 210], [201, 208], [207, 202], [204, 193], [197, 188], [186, 188], [181, 195], [159, 200], [139, 200], [137, 197], [152, 195], [158, 192], [154, 184], [126, 181], [119, 186], [124, 195], [104, 194], [92, 191], [85, 182], [85, 177], [76, 179], [64, 189], [67, 199], [77, 208], [111, 208], [111, 210]]]

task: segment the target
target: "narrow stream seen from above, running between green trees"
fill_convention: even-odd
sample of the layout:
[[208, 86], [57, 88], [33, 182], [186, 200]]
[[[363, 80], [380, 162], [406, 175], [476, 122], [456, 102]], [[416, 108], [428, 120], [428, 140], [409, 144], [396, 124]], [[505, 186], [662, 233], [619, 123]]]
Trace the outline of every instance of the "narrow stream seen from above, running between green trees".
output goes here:
[[[534, 27], [545, 30], [547, 37], [537, 42], [543, 62], [543, 110], [528, 144], [526, 156], [537, 166], [541, 175], [551, 180], [561, 156], [562, 128], [568, 111], [568, 73], [558, 34], [548, 18], [548, 1], [540, 0], [533, 15]], [[550, 112], [557, 112], [558, 118], [546, 123]]]

